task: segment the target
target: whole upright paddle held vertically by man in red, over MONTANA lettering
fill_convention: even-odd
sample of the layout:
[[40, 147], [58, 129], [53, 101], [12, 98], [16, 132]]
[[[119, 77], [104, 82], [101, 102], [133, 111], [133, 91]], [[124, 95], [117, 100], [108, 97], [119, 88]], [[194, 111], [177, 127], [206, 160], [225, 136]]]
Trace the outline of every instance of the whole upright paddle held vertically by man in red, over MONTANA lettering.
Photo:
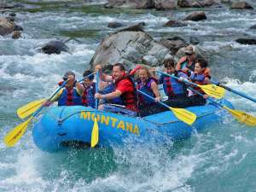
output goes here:
[[[96, 72], [96, 93], [98, 92], [98, 85], [99, 85], [99, 70]], [[90, 147], [94, 148], [99, 141], [99, 125], [97, 122], [97, 109], [98, 109], [98, 99], [95, 100], [95, 117], [93, 128], [91, 131], [90, 137]]]

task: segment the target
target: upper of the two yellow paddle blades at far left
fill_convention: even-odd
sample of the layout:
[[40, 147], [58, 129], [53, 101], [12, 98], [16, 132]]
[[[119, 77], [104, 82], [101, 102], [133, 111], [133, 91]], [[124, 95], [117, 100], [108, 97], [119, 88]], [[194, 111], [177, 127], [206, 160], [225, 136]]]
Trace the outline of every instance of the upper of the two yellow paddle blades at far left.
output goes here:
[[41, 107], [43, 102], [45, 102], [45, 99], [41, 99], [41, 100], [38, 100], [38, 101], [30, 102], [30, 103], [26, 104], [25, 106], [22, 106], [21, 108], [19, 108], [17, 110], [17, 114], [18, 114], [19, 118], [24, 119], [27, 116], [31, 115], [32, 113], [37, 111], [38, 108]]

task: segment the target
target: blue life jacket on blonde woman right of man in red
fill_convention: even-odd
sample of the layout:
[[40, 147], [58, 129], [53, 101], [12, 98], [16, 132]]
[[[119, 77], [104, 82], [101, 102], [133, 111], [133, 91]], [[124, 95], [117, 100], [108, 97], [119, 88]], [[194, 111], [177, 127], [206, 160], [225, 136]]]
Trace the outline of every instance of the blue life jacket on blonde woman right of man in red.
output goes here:
[[[151, 89], [151, 83], [154, 81], [154, 79], [149, 78], [146, 82], [146, 84], [142, 84], [142, 82], [139, 80], [137, 82], [137, 90], [141, 90], [144, 93], [148, 94], [148, 96], [154, 96], [154, 92]], [[148, 98], [148, 96], [143, 96], [142, 94], [138, 93], [138, 99], [139, 99], [139, 104], [143, 103], [154, 103], [153, 99]]]

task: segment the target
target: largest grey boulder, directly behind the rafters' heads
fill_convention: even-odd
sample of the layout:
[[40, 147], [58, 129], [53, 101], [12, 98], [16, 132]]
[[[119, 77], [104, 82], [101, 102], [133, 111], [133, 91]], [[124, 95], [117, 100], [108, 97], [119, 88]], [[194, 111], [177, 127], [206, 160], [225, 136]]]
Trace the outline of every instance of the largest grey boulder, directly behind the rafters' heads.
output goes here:
[[103, 66], [124, 63], [127, 68], [137, 63], [159, 66], [169, 55], [169, 49], [158, 44], [146, 32], [116, 32], [104, 38], [90, 61]]

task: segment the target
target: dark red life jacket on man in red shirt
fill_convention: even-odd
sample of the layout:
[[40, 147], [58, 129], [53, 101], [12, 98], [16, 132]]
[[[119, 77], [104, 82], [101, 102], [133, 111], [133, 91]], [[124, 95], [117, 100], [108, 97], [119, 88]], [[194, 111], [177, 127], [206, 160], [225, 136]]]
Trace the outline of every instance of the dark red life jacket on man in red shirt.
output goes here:
[[131, 84], [132, 84], [132, 91], [129, 92], [125, 92], [122, 93], [122, 95], [120, 96], [120, 98], [122, 99], [122, 101], [125, 104], [125, 107], [127, 109], [130, 109], [132, 111], [136, 111], [137, 112], [137, 93], [136, 93], [136, 89], [134, 87], [134, 83], [131, 80], [130, 77], [128, 76], [124, 76], [122, 79], [117, 80], [114, 84], [115, 84], [115, 88], [118, 86], [118, 84], [124, 80], [124, 79], [128, 79]]

